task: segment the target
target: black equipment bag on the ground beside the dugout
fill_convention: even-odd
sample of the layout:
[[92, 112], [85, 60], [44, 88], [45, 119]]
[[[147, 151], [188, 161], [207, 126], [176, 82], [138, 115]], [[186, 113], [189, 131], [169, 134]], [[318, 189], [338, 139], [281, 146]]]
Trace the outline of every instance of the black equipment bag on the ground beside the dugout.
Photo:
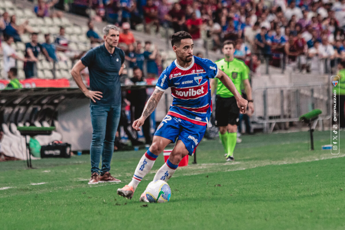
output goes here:
[[71, 144], [54, 141], [49, 145], [41, 147], [41, 158], [46, 157], [64, 157], [70, 158]]

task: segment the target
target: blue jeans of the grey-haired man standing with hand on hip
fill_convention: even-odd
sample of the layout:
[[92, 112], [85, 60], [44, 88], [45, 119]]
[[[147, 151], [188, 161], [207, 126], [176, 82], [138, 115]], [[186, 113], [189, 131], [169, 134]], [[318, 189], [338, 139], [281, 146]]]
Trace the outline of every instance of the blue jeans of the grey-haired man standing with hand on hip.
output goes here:
[[[103, 174], [110, 170], [114, 140], [120, 120], [121, 106], [90, 106], [92, 142], [90, 147], [91, 174]], [[99, 170], [102, 155], [102, 169]]]

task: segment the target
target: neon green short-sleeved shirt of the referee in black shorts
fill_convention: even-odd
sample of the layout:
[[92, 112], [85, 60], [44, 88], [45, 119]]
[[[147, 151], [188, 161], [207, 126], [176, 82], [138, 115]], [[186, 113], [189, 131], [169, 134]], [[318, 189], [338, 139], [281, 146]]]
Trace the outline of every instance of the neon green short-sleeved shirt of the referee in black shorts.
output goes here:
[[[241, 83], [243, 80], [248, 79], [248, 69], [246, 64], [243, 61], [240, 61], [236, 58], [232, 61], [225, 61], [225, 59], [220, 59], [219, 61], [215, 62], [219, 69], [223, 70], [227, 76], [231, 79], [234, 83], [237, 91], [241, 94]], [[234, 94], [228, 90], [224, 84], [217, 80], [217, 92], [216, 94], [222, 98], [229, 98], [233, 97]]]

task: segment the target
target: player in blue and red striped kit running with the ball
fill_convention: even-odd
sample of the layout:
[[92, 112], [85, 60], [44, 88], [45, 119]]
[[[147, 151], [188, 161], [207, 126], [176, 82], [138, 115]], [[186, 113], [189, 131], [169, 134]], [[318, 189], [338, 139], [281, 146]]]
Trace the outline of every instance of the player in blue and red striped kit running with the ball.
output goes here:
[[[193, 155], [203, 138], [211, 114], [209, 78], [219, 78], [234, 93], [240, 111], [244, 113], [247, 100], [243, 99], [228, 76], [208, 59], [193, 56], [193, 40], [189, 33], [180, 31], [171, 36], [172, 49], [176, 60], [160, 75], [156, 89], [147, 101], [144, 111], [132, 127], [139, 130], [145, 119], [155, 110], [164, 91], [171, 87], [174, 98], [167, 116], [159, 124], [152, 145], [141, 157], [132, 181], [118, 189], [117, 194], [131, 199], [139, 182], [151, 170], [158, 155], [170, 143], [176, 142], [166, 163], [157, 171], [154, 180], [168, 181], [187, 154]], [[147, 201], [145, 192], [140, 201]]]

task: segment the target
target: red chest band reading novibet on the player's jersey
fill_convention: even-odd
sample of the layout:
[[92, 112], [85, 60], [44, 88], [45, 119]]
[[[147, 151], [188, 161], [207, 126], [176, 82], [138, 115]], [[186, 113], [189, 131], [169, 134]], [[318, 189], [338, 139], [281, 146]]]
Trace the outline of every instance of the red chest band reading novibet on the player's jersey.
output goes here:
[[179, 99], [196, 99], [203, 97], [207, 94], [207, 81], [201, 86], [186, 87], [186, 88], [176, 88], [171, 87], [172, 97]]

